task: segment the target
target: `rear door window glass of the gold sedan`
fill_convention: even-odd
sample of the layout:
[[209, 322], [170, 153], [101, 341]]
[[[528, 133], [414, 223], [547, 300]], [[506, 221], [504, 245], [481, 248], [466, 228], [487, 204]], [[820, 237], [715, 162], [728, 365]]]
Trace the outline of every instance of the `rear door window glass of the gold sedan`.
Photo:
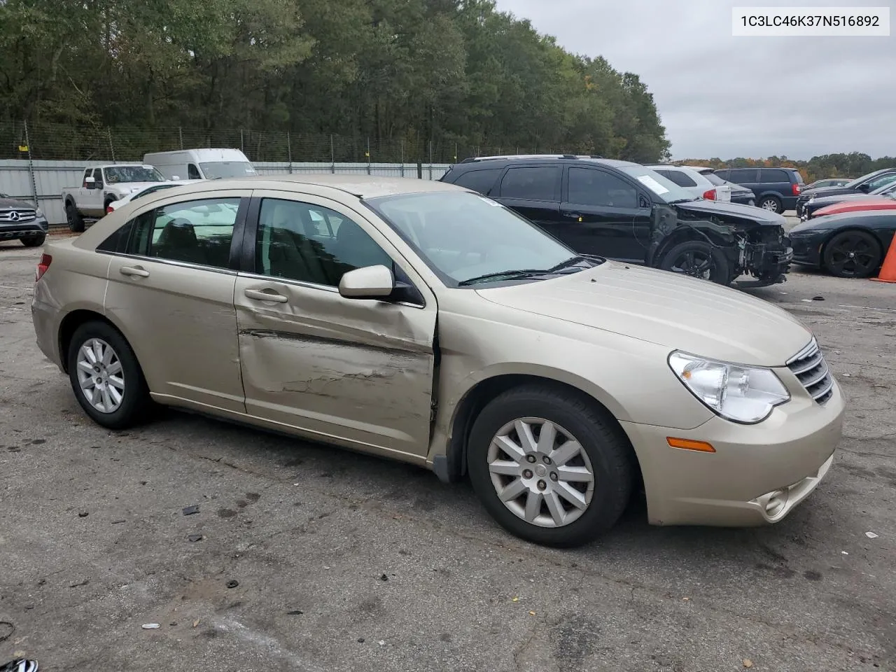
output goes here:
[[134, 222], [131, 254], [227, 268], [239, 198], [166, 205]]

